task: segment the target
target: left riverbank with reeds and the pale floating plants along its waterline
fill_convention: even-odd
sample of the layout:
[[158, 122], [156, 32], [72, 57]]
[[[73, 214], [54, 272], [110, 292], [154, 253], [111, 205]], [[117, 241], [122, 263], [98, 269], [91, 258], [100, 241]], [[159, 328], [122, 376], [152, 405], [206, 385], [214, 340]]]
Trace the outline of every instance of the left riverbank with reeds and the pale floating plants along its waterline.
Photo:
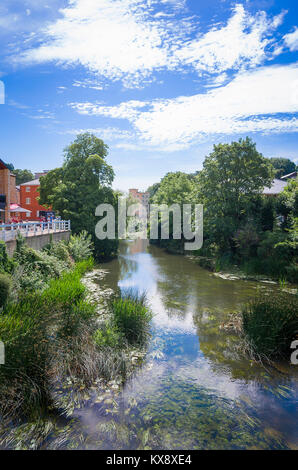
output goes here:
[[[89, 255], [86, 249], [79, 255], [75, 237], [72, 243], [77, 259], [83, 252]], [[51, 248], [69, 255], [65, 244]], [[28, 267], [36, 257], [48, 256], [24, 243], [17, 256], [21, 253]], [[85, 406], [91, 395], [97, 394], [99, 402], [109, 390], [119, 391], [142, 360], [151, 318], [145, 300], [101, 290], [103, 277], [103, 270], [93, 269], [92, 258], [72, 261], [52, 279], [43, 276], [43, 289], [20, 288], [16, 299], [7, 300], [0, 316], [5, 346], [5, 364], [0, 367], [1, 447], [40, 448], [49, 434], [58, 433], [58, 423]], [[142, 344], [127, 337], [115, 316], [116, 306], [121, 321], [129, 316], [127, 307], [136, 319], [144, 317]]]

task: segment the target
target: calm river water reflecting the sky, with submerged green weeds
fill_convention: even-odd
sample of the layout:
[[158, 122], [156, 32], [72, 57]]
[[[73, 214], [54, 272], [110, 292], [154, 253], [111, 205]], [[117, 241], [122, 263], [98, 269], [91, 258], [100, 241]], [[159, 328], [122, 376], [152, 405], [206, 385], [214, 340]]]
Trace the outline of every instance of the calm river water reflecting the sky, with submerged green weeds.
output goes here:
[[152, 339], [120, 393], [76, 411], [85, 448], [298, 448], [298, 366], [253, 363], [221, 328], [257, 289], [277, 286], [215, 277], [142, 240], [102, 267], [104, 287], [146, 291]]

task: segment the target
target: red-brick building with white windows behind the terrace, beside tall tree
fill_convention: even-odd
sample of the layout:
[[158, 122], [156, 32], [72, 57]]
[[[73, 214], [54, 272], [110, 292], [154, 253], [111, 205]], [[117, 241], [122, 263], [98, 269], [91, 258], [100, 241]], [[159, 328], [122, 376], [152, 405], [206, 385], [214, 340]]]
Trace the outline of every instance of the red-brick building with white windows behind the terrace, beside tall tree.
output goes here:
[[20, 203], [22, 207], [28, 209], [27, 213], [22, 214], [23, 219], [37, 220], [40, 218], [40, 212], [47, 212], [49, 210], [41, 206], [37, 200], [39, 197], [39, 187], [39, 178], [20, 185]]

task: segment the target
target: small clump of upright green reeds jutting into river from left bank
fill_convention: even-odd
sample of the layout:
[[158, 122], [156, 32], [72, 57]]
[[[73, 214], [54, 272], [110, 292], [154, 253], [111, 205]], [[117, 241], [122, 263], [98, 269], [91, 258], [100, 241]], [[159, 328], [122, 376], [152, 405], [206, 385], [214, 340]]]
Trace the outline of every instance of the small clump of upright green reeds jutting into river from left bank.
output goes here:
[[112, 301], [111, 308], [115, 324], [127, 342], [134, 345], [144, 344], [150, 333], [152, 318], [145, 295], [124, 292]]

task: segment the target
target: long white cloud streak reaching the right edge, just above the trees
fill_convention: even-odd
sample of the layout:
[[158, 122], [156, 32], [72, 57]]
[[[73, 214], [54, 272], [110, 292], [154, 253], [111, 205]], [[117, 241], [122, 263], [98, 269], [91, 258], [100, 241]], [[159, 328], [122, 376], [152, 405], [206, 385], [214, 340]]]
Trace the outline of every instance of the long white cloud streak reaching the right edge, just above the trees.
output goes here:
[[204, 94], [128, 101], [118, 106], [72, 103], [81, 114], [127, 119], [147, 145], [178, 150], [210, 134], [298, 130], [298, 64], [240, 73]]

